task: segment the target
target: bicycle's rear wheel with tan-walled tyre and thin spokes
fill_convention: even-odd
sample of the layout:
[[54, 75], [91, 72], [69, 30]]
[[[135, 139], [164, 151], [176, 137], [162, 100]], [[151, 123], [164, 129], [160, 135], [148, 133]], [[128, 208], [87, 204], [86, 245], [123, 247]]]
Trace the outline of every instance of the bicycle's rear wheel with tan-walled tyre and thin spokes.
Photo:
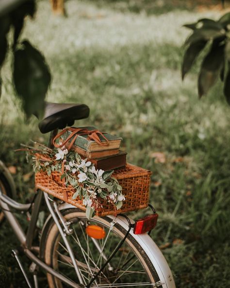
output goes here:
[[[64, 212], [64, 216], [71, 222], [73, 234], [67, 236], [68, 241], [75, 254], [84, 284], [87, 285], [114, 251], [119, 241], [124, 238], [126, 230], [118, 223], [113, 226], [110, 217], [93, 217], [88, 220], [85, 213], [79, 209], [70, 209]], [[90, 238], [85, 233], [87, 225], [100, 226], [105, 231], [105, 237], [96, 241]], [[44, 251], [45, 262], [75, 283], [79, 283], [54, 222], [49, 226], [44, 245], [42, 251]], [[66, 287], [54, 276], [47, 274], [47, 277], [50, 288]], [[125, 243], [90, 287], [152, 287], [152, 284], [157, 281], [159, 277], [148, 255], [129, 234]]]

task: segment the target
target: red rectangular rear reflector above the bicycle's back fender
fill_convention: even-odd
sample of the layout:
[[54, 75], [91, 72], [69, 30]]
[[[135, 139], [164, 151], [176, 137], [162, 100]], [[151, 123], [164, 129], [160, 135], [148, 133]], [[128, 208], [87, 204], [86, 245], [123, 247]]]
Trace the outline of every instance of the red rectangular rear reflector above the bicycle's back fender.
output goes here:
[[133, 233], [142, 234], [152, 230], [157, 225], [158, 214], [145, 216], [135, 222]]

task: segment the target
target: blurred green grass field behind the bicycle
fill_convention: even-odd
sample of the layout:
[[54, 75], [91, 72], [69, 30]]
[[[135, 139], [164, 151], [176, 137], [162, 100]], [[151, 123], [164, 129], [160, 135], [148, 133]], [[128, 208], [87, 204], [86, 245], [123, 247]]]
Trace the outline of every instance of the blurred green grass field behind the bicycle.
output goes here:
[[[90, 117], [75, 125], [94, 125], [122, 136], [128, 161], [153, 172], [150, 202], [159, 222], [151, 235], [177, 287], [226, 288], [230, 108], [221, 82], [198, 100], [198, 66], [184, 83], [180, 75], [182, 43], [188, 35], [181, 26], [198, 18], [218, 18], [223, 12], [198, 12], [169, 2], [147, 13], [138, 5], [132, 9], [135, 1], [69, 0], [67, 18], [57, 18], [50, 13], [49, 1], [39, 1], [36, 18], [27, 20], [23, 37], [43, 51], [50, 65], [48, 101], [87, 104]], [[33, 195], [31, 167], [14, 149], [31, 138], [46, 143], [48, 137], [38, 131], [35, 118], [24, 121], [10, 61], [9, 54], [2, 71], [0, 159], [16, 167], [18, 198], [26, 201]], [[25, 287], [10, 257], [17, 246], [11, 240], [5, 222], [0, 229], [0, 262], [9, 267], [14, 287]]]

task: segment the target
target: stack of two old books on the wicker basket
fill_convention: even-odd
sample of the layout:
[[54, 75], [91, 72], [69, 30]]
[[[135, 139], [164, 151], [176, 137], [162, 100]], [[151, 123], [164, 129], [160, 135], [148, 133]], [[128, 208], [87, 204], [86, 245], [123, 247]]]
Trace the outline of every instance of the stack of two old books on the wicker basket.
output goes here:
[[[88, 130], [95, 130], [95, 127], [82, 127]], [[71, 132], [67, 131], [64, 138], [67, 138]], [[88, 135], [78, 135], [72, 149], [74, 149], [82, 158], [94, 163], [96, 169], [112, 170], [126, 165], [126, 152], [120, 150], [121, 137], [116, 137], [108, 133], [103, 133], [109, 141], [108, 145], [98, 144], [96, 141], [88, 140]], [[100, 141], [106, 141], [99, 135]]]

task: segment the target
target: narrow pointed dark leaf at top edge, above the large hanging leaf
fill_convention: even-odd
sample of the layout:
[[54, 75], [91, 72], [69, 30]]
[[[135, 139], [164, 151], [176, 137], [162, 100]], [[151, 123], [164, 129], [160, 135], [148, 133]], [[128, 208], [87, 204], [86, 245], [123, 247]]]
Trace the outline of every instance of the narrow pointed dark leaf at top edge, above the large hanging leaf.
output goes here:
[[15, 28], [14, 32], [14, 46], [16, 46], [17, 39], [21, 33], [24, 19], [26, 16], [34, 16], [36, 11], [35, 0], [27, 0], [23, 2], [17, 9], [11, 12], [11, 21]]

